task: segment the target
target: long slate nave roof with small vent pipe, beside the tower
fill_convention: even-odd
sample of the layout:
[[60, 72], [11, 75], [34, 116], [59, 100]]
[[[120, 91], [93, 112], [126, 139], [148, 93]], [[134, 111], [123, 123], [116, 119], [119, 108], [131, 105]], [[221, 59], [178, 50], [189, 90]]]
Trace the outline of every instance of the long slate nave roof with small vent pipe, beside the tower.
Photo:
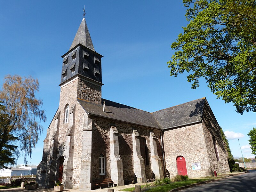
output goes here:
[[[77, 101], [81, 104], [87, 114], [160, 129], [156, 119], [147, 111], [105, 99], [102, 99], [101, 104], [80, 99], [77, 99]], [[103, 112], [103, 101], [106, 102], [105, 112]]]

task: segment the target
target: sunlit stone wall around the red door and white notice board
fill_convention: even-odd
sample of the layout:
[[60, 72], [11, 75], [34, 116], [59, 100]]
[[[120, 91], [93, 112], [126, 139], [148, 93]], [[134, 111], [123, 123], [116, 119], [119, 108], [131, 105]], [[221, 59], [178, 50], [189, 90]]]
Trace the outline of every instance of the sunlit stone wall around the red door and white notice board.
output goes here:
[[[178, 156], [186, 160], [189, 178], [211, 176], [202, 124], [194, 124], [164, 131], [164, 153], [167, 173], [176, 175]], [[192, 163], [201, 163], [201, 170], [192, 170]]]

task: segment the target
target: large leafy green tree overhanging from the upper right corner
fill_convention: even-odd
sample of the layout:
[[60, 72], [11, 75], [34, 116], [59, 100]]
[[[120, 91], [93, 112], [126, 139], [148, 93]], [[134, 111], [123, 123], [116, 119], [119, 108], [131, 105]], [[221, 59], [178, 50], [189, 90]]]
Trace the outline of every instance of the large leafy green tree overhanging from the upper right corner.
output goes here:
[[188, 72], [193, 89], [199, 78], [236, 111], [256, 112], [256, 1], [183, 0], [187, 27], [172, 43], [171, 76]]

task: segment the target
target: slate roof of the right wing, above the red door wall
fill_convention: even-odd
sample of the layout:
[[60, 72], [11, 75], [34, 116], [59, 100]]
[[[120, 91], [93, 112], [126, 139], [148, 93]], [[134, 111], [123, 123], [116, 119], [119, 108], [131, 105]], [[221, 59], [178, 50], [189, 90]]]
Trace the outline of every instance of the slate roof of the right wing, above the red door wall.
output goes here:
[[153, 112], [163, 129], [202, 121], [206, 98], [201, 98]]

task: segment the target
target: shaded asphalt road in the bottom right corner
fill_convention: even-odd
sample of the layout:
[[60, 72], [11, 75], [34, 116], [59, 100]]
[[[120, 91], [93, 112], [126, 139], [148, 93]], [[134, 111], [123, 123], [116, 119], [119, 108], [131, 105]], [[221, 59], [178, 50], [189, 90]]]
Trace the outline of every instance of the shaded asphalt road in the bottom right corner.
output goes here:
[[256, 170], [250, 170], [248, 173], [230, 176], [225, 179], [198, 185], [196, 187], [180, 190], [182, 192], [255, 192], [256, 191]]

